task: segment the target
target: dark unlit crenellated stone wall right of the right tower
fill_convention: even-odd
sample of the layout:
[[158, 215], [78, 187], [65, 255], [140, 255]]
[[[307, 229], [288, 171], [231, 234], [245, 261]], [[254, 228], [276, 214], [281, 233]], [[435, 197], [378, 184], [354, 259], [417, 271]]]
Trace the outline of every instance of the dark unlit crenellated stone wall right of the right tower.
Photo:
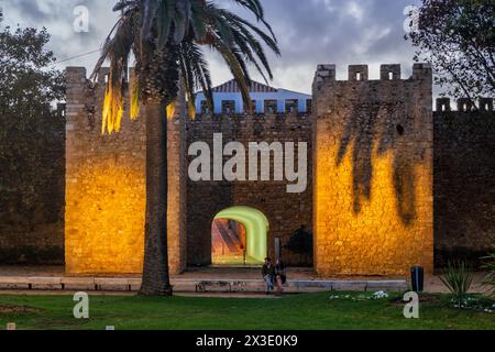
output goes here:
[[436, 265], [449, 258], [477, 264], [495, 246], [495, 116], [493, 99], [480, 111], [464, 100], [450, 111], [438, 99], [435, 112]]

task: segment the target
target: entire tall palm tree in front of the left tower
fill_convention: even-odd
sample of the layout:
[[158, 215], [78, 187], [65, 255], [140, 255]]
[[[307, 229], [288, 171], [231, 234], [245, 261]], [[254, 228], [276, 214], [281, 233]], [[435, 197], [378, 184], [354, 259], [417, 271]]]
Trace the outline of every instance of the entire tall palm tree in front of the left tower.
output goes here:
[[[195, 91], [201, 89], [213, 111], [211, 77], [202, 47], [223, 57], [252, 109], [248, 66], [254, 65], [272, 79], [262, 44], [279, 55], [275, 35], [264, 19], [260, 0], [232, 0], [248, 9], [257, 24], [206, 0], [123, 0], [122, 11], [103, 45], [92, 77], [110, 59], [103, 102], [102, 133], [118, 132], [123, 116], [127, 70], [133, 54], [130, 79], [131, 118], [146, 117], [146, 216], [142, 295], [172, 295], [167, 257], [167, 118], [183, 88], [194, 117]], [[258, 24], [267, 31], [265, 33]], [[172, 109], [170, 109], [172, 108]]]

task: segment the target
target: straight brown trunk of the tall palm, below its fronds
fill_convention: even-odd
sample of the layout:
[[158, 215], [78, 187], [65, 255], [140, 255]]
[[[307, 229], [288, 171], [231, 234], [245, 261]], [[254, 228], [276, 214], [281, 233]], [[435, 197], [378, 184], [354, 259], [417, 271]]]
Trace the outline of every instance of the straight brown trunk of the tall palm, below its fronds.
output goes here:
[[167, 253], [167, 116], [165, 101], [145, 106], [146, 222], [141, 295], [172, 296]]

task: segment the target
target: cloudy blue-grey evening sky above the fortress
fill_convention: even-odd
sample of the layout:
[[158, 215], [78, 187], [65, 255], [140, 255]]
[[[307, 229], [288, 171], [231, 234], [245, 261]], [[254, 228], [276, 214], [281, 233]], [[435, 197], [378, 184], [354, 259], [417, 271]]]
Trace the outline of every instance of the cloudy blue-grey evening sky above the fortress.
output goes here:
[[[0, 0], [3, 25], [45, 26], [57, 66], [86, 66], [90, 72], [98, 51], [118, 19], [116, 0]], [[215, 0], [239, 14], [245, 11], [231, 0]], [[370, 65], [377, 79], [381, 64], [402, 64], [403, 78], [411, 73], [414, 47], [404, 40], [405, 8], [420, 0], [262, 0], [265, 15], [280, 46], [282, 56], [268, 55], [274, 72], [271, 86], [310, 94], [318, 64], [337, 64], [337, 78], [346, 79], [346, 66]], [[88, 9], [88, 32], [76, 32], [74, 11]], [[254, 19], [252, 19], [254, 21]], [[207, 50], [213, 84], [231, 79], [222, 59]], [[252, 78], [261, 77], [252, 69]], [[89, 74], [89, 73], [88, 73]]]

